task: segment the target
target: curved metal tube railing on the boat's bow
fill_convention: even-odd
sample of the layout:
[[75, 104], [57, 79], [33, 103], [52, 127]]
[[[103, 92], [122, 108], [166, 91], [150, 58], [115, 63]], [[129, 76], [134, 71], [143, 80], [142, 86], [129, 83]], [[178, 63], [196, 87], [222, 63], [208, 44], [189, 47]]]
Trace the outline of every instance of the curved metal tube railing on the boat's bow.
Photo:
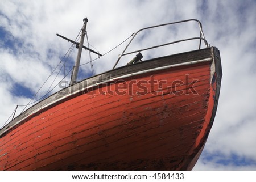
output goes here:
[[[140, 50], [135, 50], [133, 52], [129, 52], [129, 53], [125, 53], [126, 49], [129, 47], [129, 45], [131, 44], [131, 41], [134, 40], [134, 37], [141, 31], [144, 31], [146, 29], [150, 29], [150, 28], [156, 28], [156, 27], [162, 27], [162, 26], [168, 26], [168, 25], [171, 25], [171, 24], [177, 24], [177, 23], [184, 23], [184, 22], [191, 22], [191, 21], [195, 21], [199, 24], [199, 29], [200, 29], [200, 37], [192, 37], [192, 38], [189, 38], [189, 39], [181, 39], [181, 40], [177, 40], [177, 41], [172, 41], [170, 43], [166, 43], [166, 44], [161, 44], [161, 45], [156, 45], [156, 46], [151, 46], [150, 48], [146, 48], [146, 49], [140, 49]], [[155, 48], [159, 48], [160, 46], [166, 46], [166, 45], [170, 45], [170, 44], [175, 44], [175, 43], [180, 43], [180, 42], [183, 42], [183, 41], [188, 41], [188, 40], [195, 40], [195, 39], [199, 39], [199, 49], [201, 49], [201, 41], [203, 40], [204, 43], [205, 43], [205, 46], [207, 48], [209, 48], [209, 45], [207, 43], [207, 40], [205, 39], [205, 36], [204, 36], [204, 32], [203, 32], [203, 28], [202, 28], [202, 24], [199, 20], [197, 19], [188, 19], [188, 20], [183, 20], [183, 21], [179, 21], [179, 22], [172, 22], [172, 23], [165, 23], [165, 24], [159, 24], [157, 26], [152, 26], [152, 27], [147, 27], [147, 28], [142, 28], [140, 29], [139, 31], [137, 31], [133, 38], [130, 40], [130, 42], [126, 45], [126, 48], [125, 50], [123, 50], [122, 54], [119, 56], [117, 62], [115, 62], [115, 65], [113, 67], [113, 69], [115, 68], [115, 66], [117, 66], [118, 62], [120, 61], [121, 57], [122, 56], [126, 56], [126, 55], [129, 55], [129, 54], [133, 54], [133, 53], [138, 53], [138, 52], [142, 52], [144, 50], [149, 50], [149, 49], [155, 49]]]

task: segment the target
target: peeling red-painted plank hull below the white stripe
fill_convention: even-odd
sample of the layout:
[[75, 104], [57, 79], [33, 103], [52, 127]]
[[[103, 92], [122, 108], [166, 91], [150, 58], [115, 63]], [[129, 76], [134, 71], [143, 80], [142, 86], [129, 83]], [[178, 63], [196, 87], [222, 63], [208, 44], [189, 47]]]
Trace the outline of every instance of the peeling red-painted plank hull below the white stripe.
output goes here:
[[[125, 82], [131, 95], [77, 95], [43, 111], [2, 136], [0, 170], [189, 170], [206, 142], [217, 82], [210, 84], [210, 62], [137, 75], [137, 81], [186, 82], [195, 79], [198, 95], [186, 85], [152, 92]], [[101, 90], [101, 91], [102, 91]], [[184, 91], [179, 94], [179, 91]], [[189, 92], [186, 92], [189, 91]], [[178, 93], [178, 94], [175, 94]]]

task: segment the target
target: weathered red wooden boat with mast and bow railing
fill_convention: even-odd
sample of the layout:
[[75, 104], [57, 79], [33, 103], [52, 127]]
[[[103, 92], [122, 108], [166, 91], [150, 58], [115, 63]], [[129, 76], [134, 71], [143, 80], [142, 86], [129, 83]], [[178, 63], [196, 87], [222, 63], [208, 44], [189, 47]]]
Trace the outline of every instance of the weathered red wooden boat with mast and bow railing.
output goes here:
[[[186, 22], [200, 37], [126, 53], [141, 31]], [[142, 61], [144, 50], [189, 40], [199, 49]], [[220, 52], [196, 19], [140, 29], [130, 43], [113, 69], [80, 82], [73, 71], [70, 86], [5, 125], [0, 170], [192, 170], [217, 111]], [[137, 55], [115, 67], [128, 54]]]

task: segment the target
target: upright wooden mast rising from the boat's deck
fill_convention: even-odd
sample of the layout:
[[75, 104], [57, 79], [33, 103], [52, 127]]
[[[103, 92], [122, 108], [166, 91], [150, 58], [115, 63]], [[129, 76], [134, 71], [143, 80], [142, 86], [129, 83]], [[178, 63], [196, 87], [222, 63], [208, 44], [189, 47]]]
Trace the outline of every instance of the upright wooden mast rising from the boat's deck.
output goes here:
[[85, 18], [83, 21], [84, 21], [84, 26], [82, 26], [82, 35], [81, 35], [81, 39], [80, 39], [80, 43], [79, 43], [79, 50], [78, 50], [78, 53], [77, 53], [75, 66], [73, 67], [70, 85], [76, 83], [77, 73], [78, 73], [78, 70], [79, 70], [81, 54], [82, 54], [82, 46], [84, 45], [84, 37], [85, 37], [85, 34], [86, 34], [86, 25], [87, 25], [88, 19]]

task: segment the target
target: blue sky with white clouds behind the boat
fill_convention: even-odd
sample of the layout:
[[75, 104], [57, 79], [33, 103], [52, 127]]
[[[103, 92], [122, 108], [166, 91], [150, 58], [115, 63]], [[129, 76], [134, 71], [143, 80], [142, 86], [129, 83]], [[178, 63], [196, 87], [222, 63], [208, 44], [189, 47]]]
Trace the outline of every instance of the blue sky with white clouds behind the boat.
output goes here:
[[[0, 0], [0, 128], [17, 104], [26, 105], [31, 99], [32, 103], [49, 90], [53, 93], [60, 89], [55, 86], [71, 70], [77, 49], [67, 52], [72, 44], [56, 33], [75, 40], [86, 17], [89, 46], [101, 54], [108, 53], [138, 29], [199, 19], [208, 43], [220, 50], [223, 77], [216, 118], [193, 170], [256, 170], [255, 0]], [[198, 36], [196, 26], [160, 29], [152, 36], [159, 43], [190, 34]], [[135, 40], [134, 46], [152, 44], [141, 39]], [[112, 69], [127, 43], [94, 61], [96, 74]], [[168, 48], [171, 53], [189, 49], [195, 49], [195, 44]], [[66, 53], [68, 57], [64, 57]], [[162, 53], [152, 52], [154, 56]], [[91, 56], [97, 58], [96, 54]], [[126, 64], [126, 60], [118, 66]], [[83, 51], [79, 79], [92, 75], [88, 61], [89, 54]], [[19, 106], [16, 115], [23, 109]]]

